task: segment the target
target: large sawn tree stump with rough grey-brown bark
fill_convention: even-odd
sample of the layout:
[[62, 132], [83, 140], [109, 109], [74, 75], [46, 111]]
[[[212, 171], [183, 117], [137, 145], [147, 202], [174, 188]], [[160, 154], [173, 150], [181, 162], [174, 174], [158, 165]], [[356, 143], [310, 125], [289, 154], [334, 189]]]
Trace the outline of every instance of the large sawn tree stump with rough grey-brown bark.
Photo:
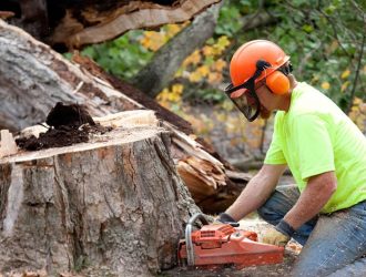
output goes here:
[[[197, 212], [159, 126], [0, 160], [0, 273], [146, 276], [176, 264]], [[1, 275], [1, 274], [0, 274]]]

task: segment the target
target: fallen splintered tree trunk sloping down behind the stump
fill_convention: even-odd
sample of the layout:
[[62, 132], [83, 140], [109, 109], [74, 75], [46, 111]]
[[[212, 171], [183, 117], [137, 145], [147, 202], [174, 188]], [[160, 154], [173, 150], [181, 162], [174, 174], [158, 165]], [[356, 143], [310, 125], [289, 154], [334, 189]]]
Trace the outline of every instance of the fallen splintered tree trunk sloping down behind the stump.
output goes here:
[[[180, 174], [190, 191], [193, 186], [202, 186], [200, 191], [206, 192], [197, 201], [204, 212], [223, 211], [248, 181], [248, 175], [231, 177], [227, 170], [233, 171], [233, 167], [212, 148], [193, 140], [187, 122], [131, 85], [105, 74], [91, 62], [87, 64], [83, 59], [78, 61], [82, 66], [67, 61], [3, 21], [0, 21], [0, 54], [3, 57], [0, 63], [1, 127], [19, 131], [43, 122], [47, 113], [60, 101], [84, 104], [93, 116], [150, 109], [156, 111], [163, 126], [173, 133], [173, 158], [175, 164], [180, 163]], [[182, 173], [184, 168], [189, 168], [186, 174]]]

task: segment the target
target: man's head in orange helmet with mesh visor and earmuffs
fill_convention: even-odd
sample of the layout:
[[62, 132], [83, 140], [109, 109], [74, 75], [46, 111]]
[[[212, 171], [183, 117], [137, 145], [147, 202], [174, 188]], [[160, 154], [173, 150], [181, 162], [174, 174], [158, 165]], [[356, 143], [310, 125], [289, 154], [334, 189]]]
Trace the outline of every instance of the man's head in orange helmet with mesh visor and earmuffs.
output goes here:
[[277, 44], [266, 40], [250, 41], [238, 48], [231, 60], [232, 83], [225, 92], [245, 117], [254, 121], [261, 112], [270, 113], [257, 93], [265, 90], [275, 95], [288, 93], [291, 71], [289, 57]]

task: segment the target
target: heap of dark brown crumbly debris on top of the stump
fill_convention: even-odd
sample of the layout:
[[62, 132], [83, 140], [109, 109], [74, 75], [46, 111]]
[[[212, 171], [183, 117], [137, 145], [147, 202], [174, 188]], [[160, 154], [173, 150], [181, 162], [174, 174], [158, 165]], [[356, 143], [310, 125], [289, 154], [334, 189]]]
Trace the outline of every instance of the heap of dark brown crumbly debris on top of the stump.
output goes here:
[[45, 123], [50, 126], [45, 133], [40, 133], [39, 137], [18, 137], [17, 145], [28, 151], [63, 147], [88, 142], [91, 134], [111, 131], [111, 127], [95, 123], [83, 105], [64, 105], [62, 102], [57, 103], [50, 111]]

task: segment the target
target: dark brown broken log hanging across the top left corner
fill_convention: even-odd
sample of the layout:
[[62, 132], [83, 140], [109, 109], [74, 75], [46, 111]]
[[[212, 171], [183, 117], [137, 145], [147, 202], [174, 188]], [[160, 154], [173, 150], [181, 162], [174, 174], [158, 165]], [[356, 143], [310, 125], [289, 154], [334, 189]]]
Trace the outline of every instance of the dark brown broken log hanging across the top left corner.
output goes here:
[[10, 22], [60, 50], [111, 40], [122, 33], [183, 22], [220, 0], [52, 1], [2, 0]]

